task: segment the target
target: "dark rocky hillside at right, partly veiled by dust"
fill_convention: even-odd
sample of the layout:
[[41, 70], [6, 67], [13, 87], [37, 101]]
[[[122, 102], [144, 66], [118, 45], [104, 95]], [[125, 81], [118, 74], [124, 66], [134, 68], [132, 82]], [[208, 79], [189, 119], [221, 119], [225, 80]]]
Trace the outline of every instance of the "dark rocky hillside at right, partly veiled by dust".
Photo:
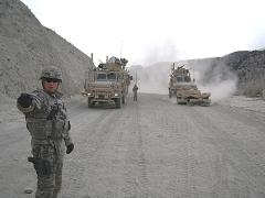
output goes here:
[[236, 80], [236, 94], [261, 96], [265, 89], [265, 51], [239, 51], [223, 57], [187, 62], [190, 68], [202, 72], [202, 82]]

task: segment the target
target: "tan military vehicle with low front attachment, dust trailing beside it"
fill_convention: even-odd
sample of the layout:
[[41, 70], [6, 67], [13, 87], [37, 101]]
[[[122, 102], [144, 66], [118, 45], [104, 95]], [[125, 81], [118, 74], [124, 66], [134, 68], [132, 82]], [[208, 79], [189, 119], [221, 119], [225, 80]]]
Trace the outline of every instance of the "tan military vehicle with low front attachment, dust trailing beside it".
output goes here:
[[171, 67], [170, 80], [169, 80], [169, 98], [176, 97], [177, 103], [183, 105], [200, 105], [210, 106], [211, 94], [201, 92], [194, 79], [191, 80], [190, 70], [184, 68], [184, 65], [174, 68], [174, 64]]

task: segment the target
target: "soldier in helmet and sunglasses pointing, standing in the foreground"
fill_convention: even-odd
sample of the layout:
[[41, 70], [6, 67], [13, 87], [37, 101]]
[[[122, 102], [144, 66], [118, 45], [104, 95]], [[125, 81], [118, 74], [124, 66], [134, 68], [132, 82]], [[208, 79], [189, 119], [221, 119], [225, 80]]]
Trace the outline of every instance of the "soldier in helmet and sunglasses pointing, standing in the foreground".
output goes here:
[[17, 107], [24, 113], [31, 134], [33, 157], [28, 161], [34, 164], [38, 176], [35, 197], [56, 198], [62, 186], [65, 146], [66, 154], [70, 154], [74, 144], [62, 94], [57, 91], [62, 82], [61, 72], [55, 67], [44, 68], [41, 80], [43, 89], [21, 94]]

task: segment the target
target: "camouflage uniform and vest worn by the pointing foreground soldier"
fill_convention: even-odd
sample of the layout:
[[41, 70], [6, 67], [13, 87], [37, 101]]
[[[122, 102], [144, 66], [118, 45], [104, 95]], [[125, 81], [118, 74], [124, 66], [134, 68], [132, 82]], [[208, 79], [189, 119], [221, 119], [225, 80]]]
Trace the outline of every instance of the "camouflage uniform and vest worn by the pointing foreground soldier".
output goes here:
[[[72, 143], [70, 122], [66, 108], [61, 97], [49, 95], [43, 90], [35, 90], [32, 106], [18, 109], [25, 114], [26, 128], [32, 136], [32, 154], [35, 158], [46, 160], [51, 166], [51, 174], [38, 175], [36, 198], [56, 198], [62, 186], [62, 168], [65, 146]], [[57, 111], [54, 120], [47, 120], [52, 108]]]

